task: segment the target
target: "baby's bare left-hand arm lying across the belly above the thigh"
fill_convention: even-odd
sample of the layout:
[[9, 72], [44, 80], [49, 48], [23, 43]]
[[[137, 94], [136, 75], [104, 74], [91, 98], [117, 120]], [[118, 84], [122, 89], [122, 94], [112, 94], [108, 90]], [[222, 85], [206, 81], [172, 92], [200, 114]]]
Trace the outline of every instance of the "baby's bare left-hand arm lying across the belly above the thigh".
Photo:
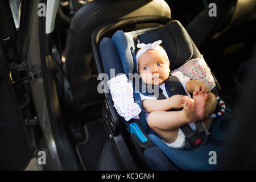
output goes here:
[[170, 98], [166, 98], [164, 100], [143, 100], [142, 106], [148, 112], [162, 110], [167, 111], [170, 109], [179, 109], [183, 107], [184, 104], [184, 96], [175, 95]]

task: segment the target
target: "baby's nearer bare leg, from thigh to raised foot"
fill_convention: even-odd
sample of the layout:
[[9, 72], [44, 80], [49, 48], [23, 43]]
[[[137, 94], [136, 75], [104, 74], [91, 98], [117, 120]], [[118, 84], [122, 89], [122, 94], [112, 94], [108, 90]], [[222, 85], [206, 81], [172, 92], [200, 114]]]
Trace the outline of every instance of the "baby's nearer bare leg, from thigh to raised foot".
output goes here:
[[191, 98], [185, 99], [183, 110], [180, 111], [153, 111], [148, 115], [148, 126], [167, 143], [175, 142], [178, 127], [189, 122], [197, 121], [195, 103]]

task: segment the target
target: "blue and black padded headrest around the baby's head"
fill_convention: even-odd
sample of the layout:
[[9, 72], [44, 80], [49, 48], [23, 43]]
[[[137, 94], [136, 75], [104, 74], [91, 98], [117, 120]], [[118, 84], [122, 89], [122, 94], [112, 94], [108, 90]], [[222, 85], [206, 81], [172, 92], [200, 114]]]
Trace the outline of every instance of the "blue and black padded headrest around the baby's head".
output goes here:
[[125, 74], [137, 72], [135, 55], [138, 51], [137, 38], [141, 43], [153, 43], [162, 40], [162, 46], [170, 59], [171, 70], [195, 58], [200, 53], [194, 54], [197, 48], [193, 45], [185, 28], [177, 20], [158, 28], [148, 28], [139, 31], [127, 32], [117, 31], [112, 40], [117, 48]]

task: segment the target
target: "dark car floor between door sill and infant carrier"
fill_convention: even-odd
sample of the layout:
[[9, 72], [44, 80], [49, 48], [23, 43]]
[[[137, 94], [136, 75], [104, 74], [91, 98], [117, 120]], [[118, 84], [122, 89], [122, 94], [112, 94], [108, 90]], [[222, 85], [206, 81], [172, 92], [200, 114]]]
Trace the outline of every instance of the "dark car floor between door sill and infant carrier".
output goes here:
[[69, 109], [66, 111], [73, 146], [76, 149], [82, 169], [96, 170], [107, 140], [101, 118], [101, 106], [95, 106], [89, 111], [80, 113], [74, 113]]

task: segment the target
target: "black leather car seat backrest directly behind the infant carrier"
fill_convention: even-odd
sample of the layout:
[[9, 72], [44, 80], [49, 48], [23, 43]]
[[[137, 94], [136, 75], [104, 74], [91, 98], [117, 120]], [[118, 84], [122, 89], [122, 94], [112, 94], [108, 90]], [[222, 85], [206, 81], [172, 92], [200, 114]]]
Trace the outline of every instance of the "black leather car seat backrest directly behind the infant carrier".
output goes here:
[[[66, 99], [75, 110], [86, 109], [102, 100], [97, 92], [96, 69], [92, 63], [91, 37], [95, 28], [112, 20], [148, 15], [171, 18], [171, 10], [163, 0], [94, 0], [77, 11], [69, 27], [64, 51], [69, 82], [66, 85], [70, 85], [66, 89], [70, 90]], [[127, 27], [127, 30], [141, 28], [143, 25]]]

